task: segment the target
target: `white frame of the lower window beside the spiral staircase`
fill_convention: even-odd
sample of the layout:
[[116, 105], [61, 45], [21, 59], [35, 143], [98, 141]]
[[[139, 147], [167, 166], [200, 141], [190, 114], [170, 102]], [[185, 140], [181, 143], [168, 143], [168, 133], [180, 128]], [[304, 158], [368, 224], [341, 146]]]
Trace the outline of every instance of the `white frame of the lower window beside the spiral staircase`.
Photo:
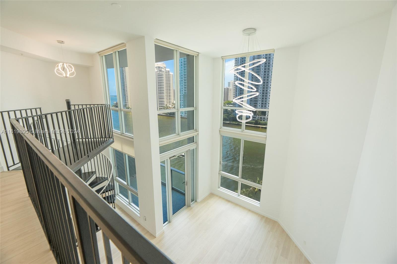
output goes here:
[[[133, 193], [136, 197], [138, 197], [139, 200], [139, 195], [138, 195], [138, 190], [134, 189], [133, 187], [129, 186], [129, 170], [128, 170], [128, 163], [127, 163], [127, 153], [124, 153], [123, 151], [119, 151], [118, 149], [115, 149], [113, 147], [110, 147], [112, 151], [110, 151], [110, 155], [112, 156], [112, 162], [114, 164], [114, 168], [116, 171], [116, 174], [114, 174], [114, 182], [115, 182], [115, 189], [116, 189], [116, 197], [119, 198], [121, 201], [123, 201], [126, 205], [128, 205], [135, 213], [139, 215], [139, 207], [137, 207], [133, 202], [132, 202], [132, 196], [131, 193]], [[117, 171], [117, 165], [116, 165], [116, 151], [119, 151], [123, 153], [123, 160], [124, 160], [124, 168], [125, 168], [125, 180], [122, 180], [121, 178], [118, 177], [118, 171]], [[128, 155], [130, 157], [133, 157], [131, 155]], [[133, 157], [135, 159], [135, 157]], [[136, 163], [135, 163], [136, 166]], [[128, 200], [120, 194], [119, 191], [119, 185], [127, 189], [128, 191]]]

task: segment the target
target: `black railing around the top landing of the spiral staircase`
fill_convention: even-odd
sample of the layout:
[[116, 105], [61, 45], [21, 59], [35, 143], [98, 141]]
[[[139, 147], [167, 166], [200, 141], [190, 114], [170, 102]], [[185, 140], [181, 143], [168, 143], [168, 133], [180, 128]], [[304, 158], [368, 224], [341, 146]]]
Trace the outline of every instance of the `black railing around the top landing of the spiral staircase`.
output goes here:
[[25, 132], [56, 155], [73, 171], [114, 142], [109, 105], [19, 117]]

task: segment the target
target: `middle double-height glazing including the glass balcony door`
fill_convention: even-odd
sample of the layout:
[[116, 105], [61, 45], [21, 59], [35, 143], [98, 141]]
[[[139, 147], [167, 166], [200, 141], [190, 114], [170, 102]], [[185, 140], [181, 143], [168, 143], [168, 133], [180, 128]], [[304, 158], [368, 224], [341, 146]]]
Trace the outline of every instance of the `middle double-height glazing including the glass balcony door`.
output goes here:
[[197, 52], [157, 41], [157, 90], [163, 222], [195, 201], [197, 175]]

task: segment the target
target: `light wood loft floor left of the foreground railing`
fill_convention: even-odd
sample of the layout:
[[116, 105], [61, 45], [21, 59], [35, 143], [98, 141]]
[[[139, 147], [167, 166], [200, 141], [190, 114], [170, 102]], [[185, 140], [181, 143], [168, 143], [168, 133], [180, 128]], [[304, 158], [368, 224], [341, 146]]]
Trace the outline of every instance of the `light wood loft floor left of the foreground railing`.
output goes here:
[[0, 173], [0, 262], [56, 263], [20, 171]]

